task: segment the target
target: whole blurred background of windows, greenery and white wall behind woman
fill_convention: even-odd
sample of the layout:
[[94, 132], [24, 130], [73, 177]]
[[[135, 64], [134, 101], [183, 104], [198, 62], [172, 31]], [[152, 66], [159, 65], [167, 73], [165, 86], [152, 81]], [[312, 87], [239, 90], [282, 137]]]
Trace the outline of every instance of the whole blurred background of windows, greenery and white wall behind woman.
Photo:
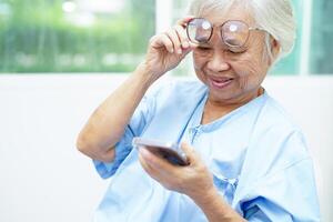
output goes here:
[[[94, 108], [189, 0], [0, 0], [0, 221], [91, 221], [109, 180], [75, 150]], [[333, 1], [293, 0], [294, 51], [264, 85], [303, 129], [333, 221]], [[169, 78], [193, 78], [191, 58]]]

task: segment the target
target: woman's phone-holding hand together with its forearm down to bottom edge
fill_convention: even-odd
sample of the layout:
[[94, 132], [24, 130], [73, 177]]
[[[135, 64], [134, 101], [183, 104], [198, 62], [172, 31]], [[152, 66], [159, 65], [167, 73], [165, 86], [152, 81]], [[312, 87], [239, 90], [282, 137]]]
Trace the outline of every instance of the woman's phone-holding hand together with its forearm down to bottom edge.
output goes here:
[[212, 174], [194, 150], [185, 143], [182, 143], [182, 150], [190, 165], [172, 165], [144, 148], [139, 150], [139, 160], [145, 172], [164, 188], [190, 196], [210, 222], [245, 221], [220, 196]]

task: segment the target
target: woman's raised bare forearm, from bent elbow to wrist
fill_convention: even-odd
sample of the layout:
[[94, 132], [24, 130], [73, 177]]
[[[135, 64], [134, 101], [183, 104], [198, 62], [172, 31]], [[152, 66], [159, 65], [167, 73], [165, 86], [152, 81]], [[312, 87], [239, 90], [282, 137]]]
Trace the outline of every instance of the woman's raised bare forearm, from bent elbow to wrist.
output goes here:
[[92, 155], [109, 152], [122, 137], [135, 108], [153, 81], [145, 73], [144, 67], [139, 65], [90, 117], [79, 134], [78, 149]]

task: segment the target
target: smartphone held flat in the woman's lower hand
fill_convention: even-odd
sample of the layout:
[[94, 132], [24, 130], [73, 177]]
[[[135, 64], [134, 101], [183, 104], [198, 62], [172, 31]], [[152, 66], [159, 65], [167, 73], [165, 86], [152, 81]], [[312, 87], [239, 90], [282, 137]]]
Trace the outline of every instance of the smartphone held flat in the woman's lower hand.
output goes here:
[[190, 162], [185, 153], [176, 143], [161, 142], [155, 140], [148, 140], [143, 138], [134, 138], [132, 141], [133, 147], [137, 149], [145, 148], [151, 153], [165, 159], [174, 165], [189, 165]]

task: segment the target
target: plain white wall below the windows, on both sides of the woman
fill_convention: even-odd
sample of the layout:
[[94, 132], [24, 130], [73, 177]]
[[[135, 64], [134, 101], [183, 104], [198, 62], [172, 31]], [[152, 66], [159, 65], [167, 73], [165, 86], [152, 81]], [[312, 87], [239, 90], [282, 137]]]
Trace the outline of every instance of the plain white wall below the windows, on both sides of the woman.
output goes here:
[[[0, 75], [0, 221], [88, 222], [108, 181], [74, 148], [123, 75]], [[317, 163], [323, 221], [333, 221], [333, 77], [269, 78]]]

